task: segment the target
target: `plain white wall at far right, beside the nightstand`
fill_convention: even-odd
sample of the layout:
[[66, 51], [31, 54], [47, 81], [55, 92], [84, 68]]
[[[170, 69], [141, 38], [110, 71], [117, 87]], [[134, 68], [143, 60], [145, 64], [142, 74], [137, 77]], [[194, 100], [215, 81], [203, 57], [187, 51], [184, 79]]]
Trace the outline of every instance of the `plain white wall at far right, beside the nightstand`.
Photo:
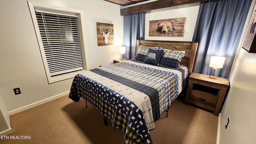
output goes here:
[[[239, 54], [230, 75], [230, 90], [219, 117], [218, 144], [255, 144], [256, 142], [256, 54], [242, 47], [249, 20], [254, 12], [253, 0], [243, 35]], [[227, 129], [226, 121], [230, 118]]]

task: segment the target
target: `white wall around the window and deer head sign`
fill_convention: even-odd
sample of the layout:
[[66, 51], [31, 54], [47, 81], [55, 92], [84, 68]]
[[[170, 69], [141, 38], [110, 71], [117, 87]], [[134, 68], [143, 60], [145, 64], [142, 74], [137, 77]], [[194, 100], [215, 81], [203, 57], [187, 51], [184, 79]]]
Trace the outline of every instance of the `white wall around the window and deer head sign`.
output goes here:
[[[85, 20], [87, 69], [120, 58], [123, 16], [120, 6], [104, 0], [31, 0], [82, 10]], [[114, 45], [98, 46], [96, 22], [114, 24]], [[1, 0], [0, 94], [8, 111], [68, 92], [72, 78], [48, 84], [27, 0]], [[13, 88], [20, 88], [15, 95]]]

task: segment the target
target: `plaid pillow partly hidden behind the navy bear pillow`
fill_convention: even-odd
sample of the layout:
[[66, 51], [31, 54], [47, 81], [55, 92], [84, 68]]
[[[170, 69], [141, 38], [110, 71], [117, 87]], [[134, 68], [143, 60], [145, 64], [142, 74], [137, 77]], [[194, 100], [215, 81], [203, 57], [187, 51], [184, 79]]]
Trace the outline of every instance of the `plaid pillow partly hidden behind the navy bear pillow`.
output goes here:
[[160, 48], [160, 47], [147, 47], [147, 46], [140, 45], [138, 47], [138, 51], [137, 51], [137, 54], [135, 56], [135, 59], [140, 60], [140, 61], [144, 61], [147, 54], [148, 54], [148, 49], [149, 48], [152, 49], [152, 50], [164, 50], [163, 48]]

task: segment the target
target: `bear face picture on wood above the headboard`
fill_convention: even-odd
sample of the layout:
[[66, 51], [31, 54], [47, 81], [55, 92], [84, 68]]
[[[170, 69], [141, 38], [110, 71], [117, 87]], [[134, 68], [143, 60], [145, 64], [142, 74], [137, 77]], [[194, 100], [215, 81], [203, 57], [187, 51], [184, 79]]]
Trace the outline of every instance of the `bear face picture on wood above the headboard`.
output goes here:
[[149, 36], [183, 36], [186, 18], [151, 20]]

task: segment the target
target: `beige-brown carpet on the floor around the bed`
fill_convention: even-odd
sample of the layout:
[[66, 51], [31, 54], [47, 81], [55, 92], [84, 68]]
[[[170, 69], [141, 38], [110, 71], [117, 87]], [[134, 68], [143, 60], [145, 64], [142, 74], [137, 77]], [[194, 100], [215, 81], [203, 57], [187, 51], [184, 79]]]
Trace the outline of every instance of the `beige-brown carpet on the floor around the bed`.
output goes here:
[[[218, 117], [177, 98], [150, 131], [154, 144], [216, 144]], [[64, 96], [10, 116], [14, 131], [1, 144], [122, 144], [124, 133], [103, 124], [103, 116], [85, 101]], [[29, 136], [30, 139], [10, 139]], [[17, 137], [16, 137], [17, 138]]]

